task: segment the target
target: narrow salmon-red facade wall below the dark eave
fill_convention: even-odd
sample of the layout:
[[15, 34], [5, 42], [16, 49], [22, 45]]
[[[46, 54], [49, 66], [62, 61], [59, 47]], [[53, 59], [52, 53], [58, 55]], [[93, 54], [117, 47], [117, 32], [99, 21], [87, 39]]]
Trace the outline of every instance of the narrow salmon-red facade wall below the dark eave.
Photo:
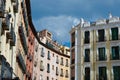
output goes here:
[[29, 26], [29, 35], [28, 35], [28, 54], [27, 54], [27, 75], [26, 80], [32, 80], [33, 73], [33, 59], [34, 59], [34, 34]]

